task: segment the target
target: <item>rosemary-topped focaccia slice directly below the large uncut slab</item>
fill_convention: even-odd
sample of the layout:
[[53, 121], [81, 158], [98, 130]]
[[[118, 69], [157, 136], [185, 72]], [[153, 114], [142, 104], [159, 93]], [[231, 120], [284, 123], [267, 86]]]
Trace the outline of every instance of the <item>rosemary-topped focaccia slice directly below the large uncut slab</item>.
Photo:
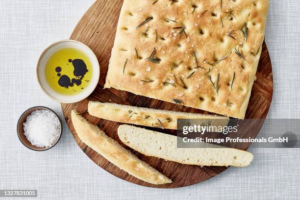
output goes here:
[[200, 123], [203, 125], [213, 126], [225, 126], [229, 122], [228, 117], [218, 115], [156, 110], [97, 101], [89, 102], [88, 111], [90, 115], [105, 120], [167, 129], [176, 129], [177, 119], [202, 119]]

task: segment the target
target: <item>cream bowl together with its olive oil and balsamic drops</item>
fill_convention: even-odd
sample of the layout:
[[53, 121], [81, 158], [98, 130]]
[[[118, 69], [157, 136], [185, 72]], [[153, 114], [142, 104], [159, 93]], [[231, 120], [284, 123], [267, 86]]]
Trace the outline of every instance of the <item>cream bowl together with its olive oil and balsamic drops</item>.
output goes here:
[[96, 88], [100, 66], [95, 53], [83, 43], [62, 40], [50, 45], [37, 64], [37, 79], [52, 100], [74, 103]]

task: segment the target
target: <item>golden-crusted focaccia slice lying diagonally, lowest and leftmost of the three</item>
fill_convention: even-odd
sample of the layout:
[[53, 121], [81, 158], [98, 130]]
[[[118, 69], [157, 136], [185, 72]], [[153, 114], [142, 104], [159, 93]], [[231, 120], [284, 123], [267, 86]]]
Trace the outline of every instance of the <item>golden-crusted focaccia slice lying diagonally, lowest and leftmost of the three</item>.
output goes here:
[[75, 110], [72, 111], [72, 123], [82, 142], [97, 151], [109, 162], [130, 175], [152, 184], [171, 183], [172, 180], [159, 173], [148, 163], [140, 160], [129, 150], [108, 137], [99, 127], [90, 124]]

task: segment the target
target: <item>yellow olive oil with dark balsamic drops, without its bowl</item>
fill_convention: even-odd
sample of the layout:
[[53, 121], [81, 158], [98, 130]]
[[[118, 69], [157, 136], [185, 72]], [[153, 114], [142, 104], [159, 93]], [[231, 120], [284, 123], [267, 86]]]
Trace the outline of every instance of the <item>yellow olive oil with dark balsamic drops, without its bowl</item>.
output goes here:
[[81, 50], [64, 48], [54, 52], [47, 61], [45, 75], [51, 89], [61, 95], [82, 92], [92, 79], [92, 64]]

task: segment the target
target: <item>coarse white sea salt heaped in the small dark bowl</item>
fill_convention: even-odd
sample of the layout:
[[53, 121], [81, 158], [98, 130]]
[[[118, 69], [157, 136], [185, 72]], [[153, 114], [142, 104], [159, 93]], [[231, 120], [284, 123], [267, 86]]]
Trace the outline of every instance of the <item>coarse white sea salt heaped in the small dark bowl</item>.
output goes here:
[[24, 135], [36, 147], [50, 147], [60, 134], [60, 122], [49, 110], [33, 111], [26, 118]]

